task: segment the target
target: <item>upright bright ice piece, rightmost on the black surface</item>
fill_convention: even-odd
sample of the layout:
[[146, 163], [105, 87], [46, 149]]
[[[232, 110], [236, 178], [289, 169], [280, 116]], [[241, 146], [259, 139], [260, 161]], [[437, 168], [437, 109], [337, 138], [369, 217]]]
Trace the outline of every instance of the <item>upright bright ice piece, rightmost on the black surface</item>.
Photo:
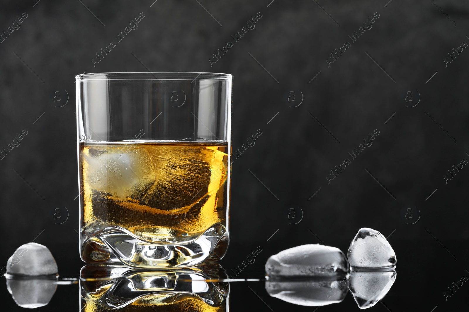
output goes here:
[[392, 269], [396, 266], [396, 254], [383, 234], [363, 227], [348, 247], [348, 262], [352, 268]]

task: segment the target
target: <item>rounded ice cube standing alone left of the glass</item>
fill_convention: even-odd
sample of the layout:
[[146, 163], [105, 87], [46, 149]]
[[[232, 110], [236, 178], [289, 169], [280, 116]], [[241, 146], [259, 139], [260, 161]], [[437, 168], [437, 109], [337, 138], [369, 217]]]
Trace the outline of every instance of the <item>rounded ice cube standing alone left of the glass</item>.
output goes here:
[[57, 274], [57, 263], [47, 247], [28, 243], [18, 247], [8, 259], [7, 273], [28, 276]]

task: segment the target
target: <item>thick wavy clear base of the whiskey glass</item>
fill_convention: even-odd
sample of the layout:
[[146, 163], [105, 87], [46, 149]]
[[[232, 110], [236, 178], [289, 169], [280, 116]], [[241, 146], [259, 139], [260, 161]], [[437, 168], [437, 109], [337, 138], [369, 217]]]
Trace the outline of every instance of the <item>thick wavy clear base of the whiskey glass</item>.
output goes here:
[[81, 258], [86, 263], [121, 263], [137, 268], [191, 267], [205, 260], [221, 259], [229, 236], [223, 225], [213, 225], [186, 244], [147, 242], [128, 231], [110, 226], [93, 233], [81, 233]]

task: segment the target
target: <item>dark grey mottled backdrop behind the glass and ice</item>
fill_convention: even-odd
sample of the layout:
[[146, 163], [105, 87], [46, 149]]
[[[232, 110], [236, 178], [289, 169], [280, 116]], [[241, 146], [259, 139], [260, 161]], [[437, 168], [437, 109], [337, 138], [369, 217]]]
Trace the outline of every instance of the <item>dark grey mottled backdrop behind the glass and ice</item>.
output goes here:
[[[62, 277], [78, 276], [75, 75], [232, 73], [233, 150], [262, 135], [233, 164], [227, 271], [261, 246], [238, 276], [261, 277], [271, 254], [306, 243], [346, 251], [359, 228], [371, 227], [392, 234], [398, 258], [396, 283], [373, 310], [462, 306], [468, 285], [447, 301], [443, 293], [469, 276], [469, 169], [446, 184], [444, 176], [469, 160], [469, 51], [446, 67], [444, 59], [469, 42], [467, 1], [36, 2], [0, 5], [1, 33], [28, 15], [0, 43], [0, 150], [28, 131], [0, 160], [0, 263], [34, 240], [51, 249]], [[95, 53], [140, 12], [138, 28], [93, 67]], [[212, 54], [258, 12], [255, 28], [211, 67]], [[375, 12], [372, 28], [328, 67], [330, 53]], [[330, 170], [376, 129], [373, 144], [328, 184]], [[233, 311], [301, 308], [269, 297], [261, 282], [250, 288], [233, 283]], [[76, 311], [77, 293], [60, 286], [39, 310]], [[8, 311], [21, 310], [6, 288], [1, 294]], [[320, 310], [345, 308], [358, 309], [350, 294]]]

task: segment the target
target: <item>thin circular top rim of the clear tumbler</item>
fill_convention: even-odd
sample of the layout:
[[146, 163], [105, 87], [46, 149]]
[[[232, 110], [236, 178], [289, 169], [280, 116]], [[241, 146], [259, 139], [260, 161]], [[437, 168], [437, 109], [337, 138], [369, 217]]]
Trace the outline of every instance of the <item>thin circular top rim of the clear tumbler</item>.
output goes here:
[[[155, 74], [168, 74], [174, 75], [171, 78], [161, 78]], [[114, 77], [106, 77], [103, 75], [113, 75]], [[202, 77], [200, 77], [202, 75]], [[139, 77], [141, 76], [141, 77]], [[96, 77], [96, 78], [93, 78]], [[99, 77], [99, 78], [98, 78]], [[200, 78], [199, 78], [200, 77]], [[109, 73], [83, 73], [75, 76], [76, 81], [85, 80], [228, 80], [232, 79], [233, 75], [229, 73], [205, 73], [205, 72], [109, 72]]]

